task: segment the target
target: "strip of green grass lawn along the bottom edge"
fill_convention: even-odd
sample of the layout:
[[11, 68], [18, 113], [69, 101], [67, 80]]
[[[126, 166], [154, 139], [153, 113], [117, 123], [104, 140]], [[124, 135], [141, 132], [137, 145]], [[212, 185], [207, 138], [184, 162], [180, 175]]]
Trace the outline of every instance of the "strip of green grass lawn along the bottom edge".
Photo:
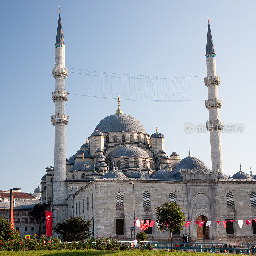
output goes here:
[[[203, 253], [204, 256], [222, 255], [217, 253]], [[1, 256], [192, 256], [199, 252], [166, 252], [166, 251], [100, 251], [100, 250], [50, 250], [50, 251], [22, 251], [22, 252], [0, 252]], [[199, 255], [198, 255], [199, 256]]]

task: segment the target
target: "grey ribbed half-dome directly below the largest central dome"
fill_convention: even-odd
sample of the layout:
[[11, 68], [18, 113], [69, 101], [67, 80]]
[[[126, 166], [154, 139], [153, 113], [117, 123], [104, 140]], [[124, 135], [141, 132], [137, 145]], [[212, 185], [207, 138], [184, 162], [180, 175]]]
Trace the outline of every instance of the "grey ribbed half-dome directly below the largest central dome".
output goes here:
[[119, 148], [114, 149], [112, 152], [109, 153], [109, 158], [115, 157], [149, 157], [148, 152], [145, 150], [132, 146], [132, 145], [125, 145]]

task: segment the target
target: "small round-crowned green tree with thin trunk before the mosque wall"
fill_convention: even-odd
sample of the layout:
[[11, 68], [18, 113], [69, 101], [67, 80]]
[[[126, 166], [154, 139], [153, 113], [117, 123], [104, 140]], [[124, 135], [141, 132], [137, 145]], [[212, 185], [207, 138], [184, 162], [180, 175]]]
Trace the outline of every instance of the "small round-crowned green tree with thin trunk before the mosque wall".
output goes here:
[[185, 223], [185, 217], [184, 213], [181, 211], [181, 206], [164, 201], [164, 204], [156, 208], [156, 214], [157, 229], [163, 232], [170, 232], [172, 251], [172, 232], [177, 229], [182, 229]]

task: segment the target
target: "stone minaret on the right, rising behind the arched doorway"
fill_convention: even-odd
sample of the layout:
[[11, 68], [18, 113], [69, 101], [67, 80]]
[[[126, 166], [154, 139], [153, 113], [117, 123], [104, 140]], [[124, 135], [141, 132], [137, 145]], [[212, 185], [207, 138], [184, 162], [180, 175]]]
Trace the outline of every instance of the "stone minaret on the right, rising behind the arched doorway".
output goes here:
[[208, 17], [208, 32], [206, 44], [206, 66], [207, 77], [204, 83], [208, 88], [208, 100], [205, 100], [205, 107], [209, 111], [209, 121], [206, 122], [206, 128], [210, 132], [212, 170], [223, 172], [221, 130], [224, 123], [220, 121], [221, 100], [218, 99], [217, 86], [220, 84], [220, 77], [216, 74], [215, 51], [212, 42], [211, 28]]

